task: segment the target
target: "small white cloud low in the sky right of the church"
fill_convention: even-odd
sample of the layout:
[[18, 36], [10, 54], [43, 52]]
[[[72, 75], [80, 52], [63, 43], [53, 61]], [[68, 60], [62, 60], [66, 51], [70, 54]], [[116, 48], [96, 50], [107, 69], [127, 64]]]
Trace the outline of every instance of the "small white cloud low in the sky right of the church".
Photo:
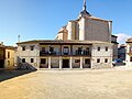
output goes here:
[[118, 36], [118, 42], [121, 44], [124, 44], [128, 38], [132, 37], [131, 35], [127, 35], [124, 33], [119, 33], [119, 34], [114, 34], [114, 35]]

